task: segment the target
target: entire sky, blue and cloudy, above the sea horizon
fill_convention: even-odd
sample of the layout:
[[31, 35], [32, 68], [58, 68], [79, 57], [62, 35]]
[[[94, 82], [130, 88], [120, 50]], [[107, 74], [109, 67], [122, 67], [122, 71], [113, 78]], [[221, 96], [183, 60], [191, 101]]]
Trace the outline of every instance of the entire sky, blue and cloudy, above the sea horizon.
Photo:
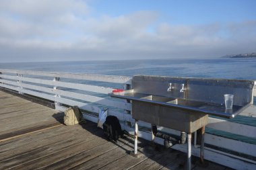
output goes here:
[[0, 62], [256, 52], [256, 1], [1, 0]]

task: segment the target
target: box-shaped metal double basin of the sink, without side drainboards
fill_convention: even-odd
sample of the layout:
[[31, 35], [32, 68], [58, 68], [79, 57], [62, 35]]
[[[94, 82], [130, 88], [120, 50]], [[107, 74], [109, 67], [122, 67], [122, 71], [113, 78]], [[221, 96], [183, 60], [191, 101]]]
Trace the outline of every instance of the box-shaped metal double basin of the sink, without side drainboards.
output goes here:
[[[148, 95], [133, 99], [133, 118], [182, 132], [195, 132], [208, 123], [208, 115], [177, 108], [178, 105], [201, 106], [199, 102]], [[181, 124], [181, 122], [183, 122]]]

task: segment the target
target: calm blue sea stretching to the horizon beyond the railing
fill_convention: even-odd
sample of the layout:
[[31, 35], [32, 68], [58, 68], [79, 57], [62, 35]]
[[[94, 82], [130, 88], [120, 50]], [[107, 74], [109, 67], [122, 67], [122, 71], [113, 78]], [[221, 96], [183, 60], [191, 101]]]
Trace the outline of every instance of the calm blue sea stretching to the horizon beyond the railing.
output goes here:
[[[256, 58], [104, 60], [72, 62], [0, 63], [0, 69], [91, 73], [100, 75], [166, 75], [256, 80]], [[236, 116], [229, 120], [256, 126], [255, 118]], [[214, 134], [219, 134], [218, 131]], [[220, 133], [223, 135], [223, 133]], [[231, 138], [256, 144], [255, 138], [228, 134]]]

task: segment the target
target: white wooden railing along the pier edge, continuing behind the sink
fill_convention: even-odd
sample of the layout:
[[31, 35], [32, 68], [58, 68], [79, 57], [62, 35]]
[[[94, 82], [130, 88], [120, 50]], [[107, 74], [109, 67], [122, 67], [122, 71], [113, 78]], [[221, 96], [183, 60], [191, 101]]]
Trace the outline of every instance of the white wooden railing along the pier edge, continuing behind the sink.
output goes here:
[[[115, 88], [129, 89], [130, 86], [131, 77], [0, 69], [0, 87], [53, 101], [55, 102], [55, 109], [62, 112], [67, 109], [68, 105], [78, 105], [79, 108], [86, 111], [84, 117], [92, 122], [98, 121], [97, 114], [100, 108], [108, 108], [108, 115], [117, 116], [122, 128], [133, 134], [131, 124], [134, 123], [134, 120], [130, 114], [131, 103], [121, 99], [113, 99], [107, 95]], [[256, 96], [256, 89], [254, 89], [254, 96]], [[246, 136], [254, 140], [255, 143], [256, 105], [250, 106], [241, 115], [251, 116], [255, 126], [210, 118], [207, 128]], [[139, 121], [139, 126], [151, 128], [151, 124], [141, 121]], [[158, 130], [179, 135], [177, 130], [164, 127], [158, 127]], [[139, 130], [139, 136], [147, 140], [152, 139], [150, 131]], [[156, 138], [155, 141], [163, 144], [161, 138]], [[205, 147], [205, 159], [209, 161], [234, 169], [256, 169], [256, 144], [209, 133], [205, 134], [205, 144], [224, 148], [224, 151], [228, 150], [249, 156], [232, 155], [223, 150], [216, 150], [214, 147]], [[183, 152], [187, 151], [187, 146], [184, 144], [174, 145], [173, 148]], [[192, 154], [199, 157], [197, 144], [194, 144]]]

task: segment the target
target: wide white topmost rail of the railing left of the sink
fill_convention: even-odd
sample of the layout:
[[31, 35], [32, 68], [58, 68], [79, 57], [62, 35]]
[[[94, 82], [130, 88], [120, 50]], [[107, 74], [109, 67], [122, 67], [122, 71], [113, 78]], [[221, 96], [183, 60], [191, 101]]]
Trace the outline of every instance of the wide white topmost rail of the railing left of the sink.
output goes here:
[[[40, 75], [46, 77], [61, 77], [67, 79], [81, 79], [89, 81], [103, 81], [109, 83], [131, 83], [131, 77], [117, 76], [117, 75], [92, 75], [81, 73], [57, 73], [57, 72], [43, 72], [43, 71], [20, 71], [20, 70], [7, 70], [0, 69], [1, 73], [15, 73], [22, 75]], [[0, 76], [1, 77], [1, 76]]]

